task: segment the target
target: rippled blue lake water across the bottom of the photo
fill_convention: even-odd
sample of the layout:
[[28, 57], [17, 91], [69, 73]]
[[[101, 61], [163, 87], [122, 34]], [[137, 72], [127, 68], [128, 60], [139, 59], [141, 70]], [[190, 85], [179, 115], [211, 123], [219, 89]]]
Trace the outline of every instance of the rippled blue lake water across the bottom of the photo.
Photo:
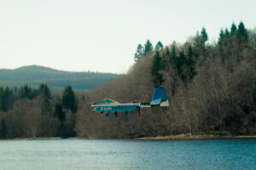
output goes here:
[[2, 140], [0, 169], [256, 169], [256, 139]]

